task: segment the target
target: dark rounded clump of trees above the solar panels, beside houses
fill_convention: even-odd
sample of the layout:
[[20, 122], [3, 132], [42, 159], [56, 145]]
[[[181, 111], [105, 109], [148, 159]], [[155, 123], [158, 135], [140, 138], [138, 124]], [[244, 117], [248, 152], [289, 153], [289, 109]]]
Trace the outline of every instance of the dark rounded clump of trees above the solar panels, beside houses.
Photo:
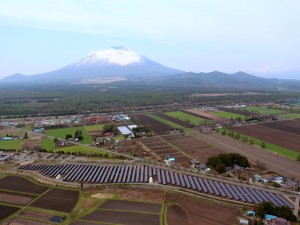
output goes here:
[[218, 173], [226, 172], [226, 167], [232, 167], [235, 164], [241, 167], [250, 167], [250, 163], [245, 156], [238, 153], [220, 154], [207, 159], [207, 165], [213, 167]]

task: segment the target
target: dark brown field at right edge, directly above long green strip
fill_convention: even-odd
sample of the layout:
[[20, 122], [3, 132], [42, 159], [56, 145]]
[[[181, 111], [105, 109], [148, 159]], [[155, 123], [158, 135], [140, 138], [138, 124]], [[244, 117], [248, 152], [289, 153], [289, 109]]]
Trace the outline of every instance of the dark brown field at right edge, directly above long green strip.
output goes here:
[[242, 134], [300, 152], [300, 135], [258, 125], [234, 128]]

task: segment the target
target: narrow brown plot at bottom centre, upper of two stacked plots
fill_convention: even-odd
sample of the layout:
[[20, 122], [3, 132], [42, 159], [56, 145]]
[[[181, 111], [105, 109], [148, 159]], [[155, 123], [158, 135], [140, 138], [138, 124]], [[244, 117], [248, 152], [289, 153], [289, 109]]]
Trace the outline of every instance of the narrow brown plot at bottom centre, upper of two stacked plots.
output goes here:
[[108, 200], [100, 205], [100, 208], [132, 212], [160, 213], [161, 204], [124, 200]]

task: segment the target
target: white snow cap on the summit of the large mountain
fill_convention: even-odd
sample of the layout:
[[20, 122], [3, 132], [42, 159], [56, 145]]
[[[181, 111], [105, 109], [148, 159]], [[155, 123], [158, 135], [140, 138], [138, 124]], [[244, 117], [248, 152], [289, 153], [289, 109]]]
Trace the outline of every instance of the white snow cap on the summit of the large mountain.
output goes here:
[[101, 51], [93, 51], [79, 62], [73, 64], [77, 66], [91, 64], [117, 64], [125, 66], [131, 63], [138, 63], [142, 56], [126, 47], [111, 47]]

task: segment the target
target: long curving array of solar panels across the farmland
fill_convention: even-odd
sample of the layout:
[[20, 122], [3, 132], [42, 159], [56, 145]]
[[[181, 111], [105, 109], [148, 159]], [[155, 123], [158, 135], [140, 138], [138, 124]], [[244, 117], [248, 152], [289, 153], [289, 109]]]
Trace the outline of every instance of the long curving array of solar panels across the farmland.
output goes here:
[[176, 173], [147, 165], [139, 166], [99, 166], [80, 164], [21, 166], [22, 170], [38, 170], [44, 175], [56, 177], [65, 174], [64, 181], [90, 183], [146, 183], [153, 177], [158, 184], [173, 185], [182, 188], [229, 198], [236, 201], [259, 204], [263, 201], [274, 205], [294, 206], [280, 194], [262, 191], [240, 185], [228, 184], [196, 176]]

